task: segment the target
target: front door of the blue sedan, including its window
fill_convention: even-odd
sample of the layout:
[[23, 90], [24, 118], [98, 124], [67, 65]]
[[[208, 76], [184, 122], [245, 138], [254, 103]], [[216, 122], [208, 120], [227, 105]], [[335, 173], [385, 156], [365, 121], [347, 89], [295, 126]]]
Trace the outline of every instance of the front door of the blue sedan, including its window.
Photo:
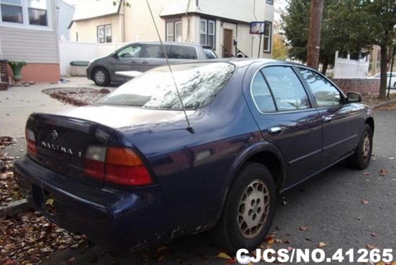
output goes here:
[[358, 108], [331, 81], [309, 68], [299, 67], [314, 96], [323, 121], [322, 166], [330, 166], [351, 153], [358, 144], [362, 122]]

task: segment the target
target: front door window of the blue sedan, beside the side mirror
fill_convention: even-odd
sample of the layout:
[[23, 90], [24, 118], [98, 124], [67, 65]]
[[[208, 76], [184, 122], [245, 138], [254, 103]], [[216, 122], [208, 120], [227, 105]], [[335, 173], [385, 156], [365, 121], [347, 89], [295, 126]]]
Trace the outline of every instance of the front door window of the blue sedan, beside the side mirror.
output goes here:
[[341, 93], [325, 77], [306, 68], [299, 68], [299, 71], [308, 82], [319, 108], [343, 104]]

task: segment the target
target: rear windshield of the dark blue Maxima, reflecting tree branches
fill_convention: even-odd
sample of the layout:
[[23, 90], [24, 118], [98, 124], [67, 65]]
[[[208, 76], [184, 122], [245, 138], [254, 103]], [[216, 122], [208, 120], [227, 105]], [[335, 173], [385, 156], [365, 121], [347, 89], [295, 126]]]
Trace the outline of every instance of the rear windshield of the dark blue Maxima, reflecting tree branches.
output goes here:
[[[227, 62], [172, 65], [186, 109], [203, 107], [225, 87], [235, 71]], [[168, 66], [162, 66], [123, 84], [99, 104], [181, 110], [182, 104]]]

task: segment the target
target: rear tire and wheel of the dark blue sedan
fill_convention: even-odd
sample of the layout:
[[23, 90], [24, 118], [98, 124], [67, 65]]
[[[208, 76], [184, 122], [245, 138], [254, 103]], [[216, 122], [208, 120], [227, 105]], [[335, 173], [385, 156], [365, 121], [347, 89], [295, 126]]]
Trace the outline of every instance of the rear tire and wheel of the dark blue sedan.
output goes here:
[[262, 164], [246, 164], [230, 188], [214, 240], [232, 252], [256, 249], [271, 227], [275, 204], [269, 170]]

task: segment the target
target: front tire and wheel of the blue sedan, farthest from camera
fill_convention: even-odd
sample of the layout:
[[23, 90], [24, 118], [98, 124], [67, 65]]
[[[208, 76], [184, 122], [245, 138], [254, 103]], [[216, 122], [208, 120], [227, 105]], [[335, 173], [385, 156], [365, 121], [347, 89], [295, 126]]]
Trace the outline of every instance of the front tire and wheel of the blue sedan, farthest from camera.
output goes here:
[[364, 169], [369, 166], [371, 152], [373, 151], [373, 130], [369, 125], [364, 125], [355, 153], [347, 158], [347, 164], [352, 168]]

